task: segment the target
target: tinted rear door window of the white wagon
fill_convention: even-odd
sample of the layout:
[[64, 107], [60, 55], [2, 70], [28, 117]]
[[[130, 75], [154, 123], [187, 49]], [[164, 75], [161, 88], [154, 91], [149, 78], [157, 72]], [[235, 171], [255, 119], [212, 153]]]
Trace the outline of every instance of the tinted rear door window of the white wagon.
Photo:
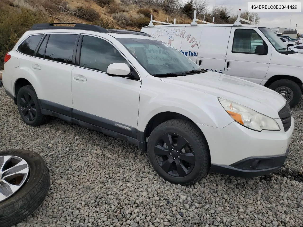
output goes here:
[[72, 64], [72, 57], [77, 35], [51, 34], [49, 36], [45, 59]]

